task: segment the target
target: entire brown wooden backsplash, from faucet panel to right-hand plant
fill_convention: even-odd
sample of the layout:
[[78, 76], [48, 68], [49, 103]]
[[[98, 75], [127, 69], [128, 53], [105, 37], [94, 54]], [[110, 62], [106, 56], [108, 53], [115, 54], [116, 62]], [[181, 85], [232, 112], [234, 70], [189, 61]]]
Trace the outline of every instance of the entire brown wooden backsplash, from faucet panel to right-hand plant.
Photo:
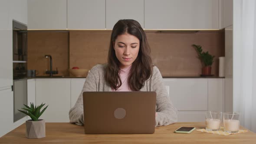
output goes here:
[[[53, 56], [53, 69], [59, 75], [69, 75], [68, 69], [91, 69], [96, 64], [107, 62], [111, 31], [29, 31], [28, 69], [39, 70], [45, 75], [49, 59]], [[218, 57], [225, 55], [224, 31], [200, 32], [146, 32], [154, 65], [163, 76], [190, 76], [201, 74], [201, 62], [192, 44], [201, 45], [203, 51], [215, 56], [212, 74], [218, 76]]]

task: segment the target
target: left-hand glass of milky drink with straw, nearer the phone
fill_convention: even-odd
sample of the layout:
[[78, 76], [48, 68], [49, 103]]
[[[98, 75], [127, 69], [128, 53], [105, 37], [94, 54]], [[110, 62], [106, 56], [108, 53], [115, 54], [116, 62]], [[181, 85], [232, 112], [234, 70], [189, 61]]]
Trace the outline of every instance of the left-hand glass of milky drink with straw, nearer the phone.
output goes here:
[[218, 131], [220, 129], [221, 114], [219, 111], [206, 111], [205, 129], [208, 131]]

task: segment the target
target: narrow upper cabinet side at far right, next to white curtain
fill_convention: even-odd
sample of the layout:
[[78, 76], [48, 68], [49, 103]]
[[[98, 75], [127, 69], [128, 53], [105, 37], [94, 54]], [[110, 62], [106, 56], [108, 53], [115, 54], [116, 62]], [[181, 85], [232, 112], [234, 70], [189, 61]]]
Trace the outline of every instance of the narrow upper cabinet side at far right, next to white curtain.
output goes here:
[[233, 25], [233, 0], [220, 0], [220, 29]]

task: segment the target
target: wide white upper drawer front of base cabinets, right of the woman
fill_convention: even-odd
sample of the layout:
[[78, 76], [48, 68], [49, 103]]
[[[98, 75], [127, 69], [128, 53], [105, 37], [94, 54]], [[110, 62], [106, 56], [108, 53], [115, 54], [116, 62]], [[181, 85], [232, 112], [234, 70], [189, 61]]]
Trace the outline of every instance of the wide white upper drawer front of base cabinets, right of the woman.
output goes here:
[[207, 79], [164, 79], [178, 111], [207, 111]]

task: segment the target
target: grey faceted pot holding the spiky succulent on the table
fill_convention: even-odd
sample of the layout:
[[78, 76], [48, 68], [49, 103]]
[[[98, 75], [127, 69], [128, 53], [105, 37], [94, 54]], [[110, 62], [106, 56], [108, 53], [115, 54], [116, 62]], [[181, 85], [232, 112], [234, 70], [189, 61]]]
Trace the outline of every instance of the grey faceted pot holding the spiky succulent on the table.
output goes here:
[[42, 138], [45, 137], [45, 120], [26, 121], [26, 137], [27, 138]]

